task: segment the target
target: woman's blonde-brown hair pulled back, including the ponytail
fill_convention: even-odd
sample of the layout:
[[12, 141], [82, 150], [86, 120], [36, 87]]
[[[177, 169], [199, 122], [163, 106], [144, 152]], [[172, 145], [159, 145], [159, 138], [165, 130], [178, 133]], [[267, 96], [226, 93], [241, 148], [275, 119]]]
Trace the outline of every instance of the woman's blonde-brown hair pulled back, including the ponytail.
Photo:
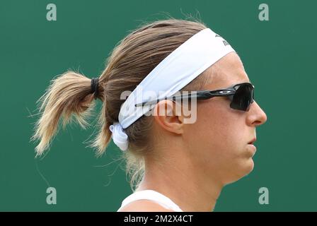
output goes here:
[[[121, 40], [107, 59], [107, 66], [99, 77], [98, 99], [103, 102], [99, 114], [99, 132], [91, 142], [97, 155], [102, 155], [110, 143], [109, 126], [118, 121], [122, 92], [132, 91], [168, 54], [183, 44], [192, 35], [207, 28], [202, 22], [169, 18], [142, 25]], [[182, 90], [199, 90], [209, 81], [210, 74], [204, 71]], [[39, 140], [36, 155], [50, 148], [62, 119], [63, 128], [75, 119], [83, 129], [95, 106], [91, 93], [91, 78], [67, 71], [54, 78], [45, 94], [38, 100], [40, 119], [35, 124], [31, 140]], [[129, 148], [122, 153], [126, 160], [131, 187], [139, 184], [144, 174], [144, 155], [154, 150], [151, 145], [152, 117], [143, 116], [125, 129]]]

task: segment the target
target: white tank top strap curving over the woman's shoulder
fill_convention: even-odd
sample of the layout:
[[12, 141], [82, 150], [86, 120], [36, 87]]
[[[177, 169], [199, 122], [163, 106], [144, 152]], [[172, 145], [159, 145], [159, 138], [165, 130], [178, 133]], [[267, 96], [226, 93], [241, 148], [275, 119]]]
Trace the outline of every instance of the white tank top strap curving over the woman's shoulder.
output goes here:
[[153, 201], [154, 203], [158, 203], [164, 208], [173, 210], [175, 212], [183, 212], [183, 210], [181, 210], [179, 206], [176, 205], [176, 203], [171, 201], [170, 198], [154, 190], [143, 190], [143, 191], [136, 191], [132, 193], [131, 195], [127, 196], [127, 198], [125, 198], [122, 201], [122, 205], [117, 211], [119, 211], [124, 206], [127, 206], [127, 204], [132, 203], [133, 201], [142, 200], [142, 199]]

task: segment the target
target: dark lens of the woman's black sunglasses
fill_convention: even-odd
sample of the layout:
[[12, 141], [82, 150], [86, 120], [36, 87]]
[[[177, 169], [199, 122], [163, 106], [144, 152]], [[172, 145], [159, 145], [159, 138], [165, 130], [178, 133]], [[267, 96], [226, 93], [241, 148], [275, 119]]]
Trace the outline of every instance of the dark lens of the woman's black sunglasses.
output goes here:
[[236, 93], [232, 97], [230, 107], [233, 109], [248, 111], [253, 102], [254, 88], [251, 84], [242, 84], [236, 87]]

